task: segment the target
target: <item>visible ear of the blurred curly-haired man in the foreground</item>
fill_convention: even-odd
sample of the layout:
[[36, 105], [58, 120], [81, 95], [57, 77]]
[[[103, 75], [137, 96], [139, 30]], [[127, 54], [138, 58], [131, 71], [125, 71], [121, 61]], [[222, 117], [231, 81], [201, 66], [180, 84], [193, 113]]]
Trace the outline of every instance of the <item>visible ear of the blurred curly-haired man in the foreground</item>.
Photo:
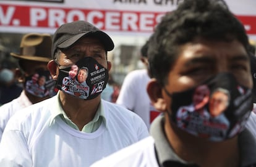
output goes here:
[[154, 105], [156, 110], [160, 112], [166, 111], [166, 102], [162, 95], [162, 87], [155, 78], [148, 82], [147, 86], [148, 96], [150, 97], [151, 103]]

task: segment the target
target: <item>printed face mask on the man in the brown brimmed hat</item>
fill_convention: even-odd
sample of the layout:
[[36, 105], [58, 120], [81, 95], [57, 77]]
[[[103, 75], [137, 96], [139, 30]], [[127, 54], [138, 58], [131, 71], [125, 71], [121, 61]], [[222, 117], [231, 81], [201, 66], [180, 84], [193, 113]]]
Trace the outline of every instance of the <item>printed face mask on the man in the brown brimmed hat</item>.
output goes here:
[[24, 88], [36, 97], [52, 97], [56, 95], [54, 91], [55, 81], [51, 78], [49, 71], [36, 71], [33, 75], [25, 78]]

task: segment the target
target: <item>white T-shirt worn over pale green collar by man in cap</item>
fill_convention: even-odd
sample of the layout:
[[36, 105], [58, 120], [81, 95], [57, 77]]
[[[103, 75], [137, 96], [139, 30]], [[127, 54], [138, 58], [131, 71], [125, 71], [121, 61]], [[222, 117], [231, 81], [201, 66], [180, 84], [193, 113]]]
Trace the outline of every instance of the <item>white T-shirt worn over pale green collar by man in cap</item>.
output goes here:
[[0, 166], [90, 166], [96, 160], [148, 136], [133, 112], [101, 100], [106, 123], [95, 132], [77, 131], [59, 116], [58, 96], [12, 116], [0, 143]]

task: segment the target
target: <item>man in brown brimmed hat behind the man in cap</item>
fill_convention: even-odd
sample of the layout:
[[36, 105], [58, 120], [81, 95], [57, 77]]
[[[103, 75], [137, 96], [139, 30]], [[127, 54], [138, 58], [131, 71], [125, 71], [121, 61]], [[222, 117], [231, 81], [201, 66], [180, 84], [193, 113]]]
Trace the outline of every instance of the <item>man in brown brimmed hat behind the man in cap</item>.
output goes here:
[[[54, 80], [51, 78], [47, 63], [51, 60], [51, 35], [28, 33], [20, 42], [20, 53], [11, 55], [18, 59], [20, 68], [15, 75], [23, 84], [20, 96], [0, 107], [0, 141], [7, 122], [14, 113], [29, 105], [54, 96]], [[45, 84], [38, 84], [38, 78], [45, 78]], [[40, 80], [39, 80], [40, 81]]]

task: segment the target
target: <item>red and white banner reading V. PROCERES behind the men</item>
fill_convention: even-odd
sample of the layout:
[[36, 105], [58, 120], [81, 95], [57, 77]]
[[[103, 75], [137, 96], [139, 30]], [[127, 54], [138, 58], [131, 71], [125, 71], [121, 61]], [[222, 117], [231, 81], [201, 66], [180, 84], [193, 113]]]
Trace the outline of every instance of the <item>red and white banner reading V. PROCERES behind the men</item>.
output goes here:
[[[247, 33], [256, 36], [255, 9], [250, 12], [245, 8], [248, 4], [241, 7], [242, 4], [234, 0], [229, 1], [229, 8], [234, 9], [233, 13], [244, 24]], [[252, 3], [249, 7], [256, 6], [254, 0], [245, 1]], [[87, 20], [108, 33], [150, 35], [164, 13], [174, 10], [179, 2], [181, 0], [0, 1], [0, 33], [54, 33], [63, 23]]]

